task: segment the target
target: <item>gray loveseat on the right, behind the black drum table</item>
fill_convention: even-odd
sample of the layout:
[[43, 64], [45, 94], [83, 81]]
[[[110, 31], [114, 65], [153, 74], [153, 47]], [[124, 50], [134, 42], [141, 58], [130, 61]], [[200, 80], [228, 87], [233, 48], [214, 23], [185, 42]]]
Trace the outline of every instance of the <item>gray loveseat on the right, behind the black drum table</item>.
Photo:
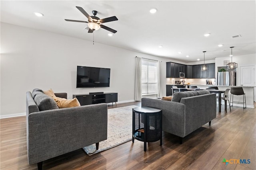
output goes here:
[[142, 106], [162, 109], [162, 129], [180, 137], [216, 118], [216, 94], [207, 90], [175, 92], [171, 101], [142, 98]]

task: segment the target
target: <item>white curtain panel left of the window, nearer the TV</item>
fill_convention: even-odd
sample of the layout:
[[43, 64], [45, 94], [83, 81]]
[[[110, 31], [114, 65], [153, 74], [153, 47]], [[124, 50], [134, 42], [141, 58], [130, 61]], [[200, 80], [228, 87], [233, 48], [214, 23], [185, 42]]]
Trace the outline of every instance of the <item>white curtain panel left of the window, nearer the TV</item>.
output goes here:
[[135, 101], [141, 101], [141, 58], [136, 57], [136, 68], [135, 68]]

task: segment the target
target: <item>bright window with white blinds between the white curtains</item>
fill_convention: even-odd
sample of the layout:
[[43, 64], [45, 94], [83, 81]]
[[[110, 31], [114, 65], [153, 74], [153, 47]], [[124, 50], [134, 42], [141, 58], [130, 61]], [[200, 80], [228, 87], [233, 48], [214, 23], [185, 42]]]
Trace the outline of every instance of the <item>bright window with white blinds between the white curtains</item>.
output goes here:
[[158, 61], [141, 60], [142, 95], [158, 93]]

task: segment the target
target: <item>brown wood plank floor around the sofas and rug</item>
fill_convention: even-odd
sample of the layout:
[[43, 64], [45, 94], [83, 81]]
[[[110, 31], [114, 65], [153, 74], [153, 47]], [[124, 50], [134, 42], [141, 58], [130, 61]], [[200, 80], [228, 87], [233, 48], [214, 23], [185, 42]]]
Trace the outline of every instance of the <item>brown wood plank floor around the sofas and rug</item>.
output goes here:
[[[254, 103], [255, 104], [255, 103]], [[138, 105], [140, 102], [118, 104], [114, 107]], [[255, 170], [256, 169], [256, 108], [232, 107], [226, 113], [224, 106], [217, 117], [184, 138], [163, 133], [160, 142], [148, 143], [144, 152], [143, 143], [129, 141], [109, 150], [88, 156], [82, 149], [46, 160], [43, 169], [206, 169], [206, 170]], [[218, 108], [217, 108], [218, 110]], [[26, 150], [26, 117], [13, 117], [0, 120], [0, 169], [33, 170], [36, 164], [28, 165]], [[222, 163], [223, 158], [250, 159], [250, 164]]]

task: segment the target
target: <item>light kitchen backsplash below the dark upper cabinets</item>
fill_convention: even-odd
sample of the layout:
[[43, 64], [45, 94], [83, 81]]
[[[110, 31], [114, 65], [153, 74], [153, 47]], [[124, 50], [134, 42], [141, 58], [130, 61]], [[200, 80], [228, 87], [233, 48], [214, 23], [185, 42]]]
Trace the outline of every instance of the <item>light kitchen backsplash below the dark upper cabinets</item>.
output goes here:
[[211, 80], [212, 85], [216, 84], [214, 78], [166, 78], [166, 84], [175, 84], [175, 81], [185, 80], [185, 84], [202, 84], [206, 85], [206, 80]]

